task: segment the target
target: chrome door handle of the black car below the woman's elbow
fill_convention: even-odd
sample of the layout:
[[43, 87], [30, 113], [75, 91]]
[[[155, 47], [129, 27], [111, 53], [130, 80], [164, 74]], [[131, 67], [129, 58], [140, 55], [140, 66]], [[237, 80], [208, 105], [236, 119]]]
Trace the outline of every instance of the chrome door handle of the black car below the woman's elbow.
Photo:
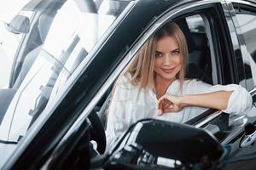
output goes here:
[[245, 135], [241, 139], [240, 147], [245, 148], [252, 145], [256, 141], [256, 131], [253, 123], [248, 123], [245, 127]]

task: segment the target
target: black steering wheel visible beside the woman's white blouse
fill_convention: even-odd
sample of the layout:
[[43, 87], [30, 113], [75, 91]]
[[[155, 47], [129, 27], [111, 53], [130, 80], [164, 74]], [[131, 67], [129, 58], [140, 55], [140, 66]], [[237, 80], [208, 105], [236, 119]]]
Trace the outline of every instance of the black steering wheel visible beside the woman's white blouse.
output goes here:
[[100, 154], [103, 154], [106, 150], [106, 134], [105, 134], [104, 127], [102, 126], [102, 122], [95, 110], [90, 112], [88, 119], [90, 120], [90, 123], [91, 123], [91, 130], [90, 130], [91, 140], [96, 141], [97, 151]]

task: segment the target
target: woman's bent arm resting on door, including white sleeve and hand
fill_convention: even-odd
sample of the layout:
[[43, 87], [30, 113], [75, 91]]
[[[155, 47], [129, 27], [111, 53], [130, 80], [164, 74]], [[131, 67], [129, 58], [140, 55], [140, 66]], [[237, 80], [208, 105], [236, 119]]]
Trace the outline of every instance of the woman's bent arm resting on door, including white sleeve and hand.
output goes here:
[[237, 84], [212, 86], [192, 80], [183, 83], [183, 91], [181, 96], [175, 96], [172, 95], [172, 90], [168, 89], [167, 94], [159, 100], [160, 114], [180, 111], [185, 106], [195, 105], [238, 115], [251, 108], [253, 103], [247, 89]]

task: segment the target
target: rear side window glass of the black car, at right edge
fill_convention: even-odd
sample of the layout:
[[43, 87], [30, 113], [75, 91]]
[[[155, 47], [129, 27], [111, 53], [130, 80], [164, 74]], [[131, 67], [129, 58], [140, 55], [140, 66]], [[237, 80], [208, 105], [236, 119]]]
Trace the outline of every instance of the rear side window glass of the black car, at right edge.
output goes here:
[[[254, 74], [256, 72], [256, 13], [249, 12], [245, 9], [237, 9], [236, 19], [241, 28], [242, 36], [248, 52], [247, 57], [244, 58], [244, 62], [247, 79], [248, 81], [251, 81], [250, 84], [253, 84], [248, 88], [252, 89], [256, 86], [256, 77]], [[247, 69], [249, 69], [249, 71], [247, 71]], [[250, 69], [252, 73], [250, 73]]]

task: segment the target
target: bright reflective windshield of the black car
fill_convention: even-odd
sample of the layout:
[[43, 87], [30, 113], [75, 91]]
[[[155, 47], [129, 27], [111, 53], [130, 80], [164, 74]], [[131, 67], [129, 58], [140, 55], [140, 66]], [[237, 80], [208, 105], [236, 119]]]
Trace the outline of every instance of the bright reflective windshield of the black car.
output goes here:
[[96, 2], [68, 0], [57, 11], [41, 51], [3, 115], [1, 141], [18, 144], [128, 4]]

